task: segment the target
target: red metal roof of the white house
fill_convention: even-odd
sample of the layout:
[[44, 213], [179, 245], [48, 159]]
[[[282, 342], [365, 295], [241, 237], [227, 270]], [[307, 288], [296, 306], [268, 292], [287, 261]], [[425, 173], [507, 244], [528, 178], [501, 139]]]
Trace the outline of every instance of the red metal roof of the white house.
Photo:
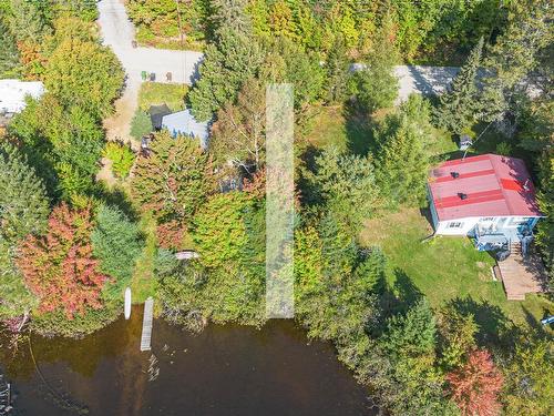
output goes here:
[[521, 159], [482, 154], [448, 161], [431, 171], [429, 187], [439, 221], [543, 216]]

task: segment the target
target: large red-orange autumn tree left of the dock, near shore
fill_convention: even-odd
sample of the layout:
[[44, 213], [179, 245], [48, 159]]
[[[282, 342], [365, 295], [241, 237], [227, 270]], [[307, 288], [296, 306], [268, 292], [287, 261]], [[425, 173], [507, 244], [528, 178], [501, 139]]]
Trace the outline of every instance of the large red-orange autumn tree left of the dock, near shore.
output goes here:
[[72, 211], [62, 204], [52, 211], [47, 235], [29, 235], [21, 244], [17, 262], [41, 312], [61, 308], [71, 319], [85, 306], [102, 306], [100, 292], [107, 277], [92, 256], [92, 227], [90, 209]]

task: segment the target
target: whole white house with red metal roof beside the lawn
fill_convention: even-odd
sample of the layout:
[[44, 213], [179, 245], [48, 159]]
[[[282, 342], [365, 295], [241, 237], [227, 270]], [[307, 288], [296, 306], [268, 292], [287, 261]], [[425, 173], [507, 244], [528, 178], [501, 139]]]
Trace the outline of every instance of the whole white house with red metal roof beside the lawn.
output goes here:
[[483, 154], [431, 171], [429, 200], [435, 234], [483, 242], [520, 241], [538, 219], [535, 187], [521, 159]]

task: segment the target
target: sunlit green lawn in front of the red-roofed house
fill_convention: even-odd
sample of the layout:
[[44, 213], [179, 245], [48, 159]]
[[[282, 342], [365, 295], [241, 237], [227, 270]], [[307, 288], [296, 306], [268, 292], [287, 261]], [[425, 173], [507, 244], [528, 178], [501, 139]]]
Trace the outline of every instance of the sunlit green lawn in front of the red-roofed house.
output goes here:
[[424, 294], [433, 307], [470, 296], [491, 311], [497, 306], [520, 324], [553, 311], [553, 304], [538, 295], [527, 295], [524, 302], [507, 301], [502, 283], [492, 280], [491, 255], [476, 251], [465, 237], [439, 236], [423, 243], [431, 233], [432, 227], [420, 210], [410, 209], [368, 221], [360, 241], [384, 251], [389, 284], [397, 294]]

